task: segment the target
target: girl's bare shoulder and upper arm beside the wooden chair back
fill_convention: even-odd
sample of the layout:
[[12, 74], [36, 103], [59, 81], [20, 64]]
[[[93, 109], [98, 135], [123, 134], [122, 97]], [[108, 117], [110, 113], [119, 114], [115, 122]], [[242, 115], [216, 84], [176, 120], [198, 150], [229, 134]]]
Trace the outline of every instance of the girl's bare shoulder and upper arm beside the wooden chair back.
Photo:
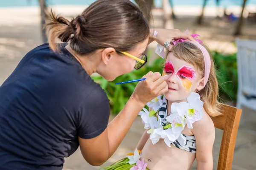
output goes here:
[[198, 170], [212, 170], [212, 147], [215, 139], [215, 128], [212, 119], [204, 113], [203, 118], [193, 123], [192, 133], [196, 141], [196, 160]]

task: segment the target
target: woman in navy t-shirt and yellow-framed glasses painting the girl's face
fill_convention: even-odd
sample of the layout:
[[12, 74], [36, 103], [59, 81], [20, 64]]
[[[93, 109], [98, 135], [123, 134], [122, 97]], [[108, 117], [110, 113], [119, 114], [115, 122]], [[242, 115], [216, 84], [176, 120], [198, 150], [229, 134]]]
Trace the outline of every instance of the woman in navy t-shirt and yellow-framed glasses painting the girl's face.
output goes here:
[[52, 13], [47, 26], [49, 44], [29, 51], [0, 87], [1, 170], [61, 170], [79, 145], [88, 163], [103, 164], [137, 113], [168, 85], [160, 73], [146, 74], [108, 124], [109, 100], [91, 74], [112, 81], [145, 64], [150, 42], [194, 40], [178, 30], [154, 36], [130, 0], [98, 0], [71, 21]]

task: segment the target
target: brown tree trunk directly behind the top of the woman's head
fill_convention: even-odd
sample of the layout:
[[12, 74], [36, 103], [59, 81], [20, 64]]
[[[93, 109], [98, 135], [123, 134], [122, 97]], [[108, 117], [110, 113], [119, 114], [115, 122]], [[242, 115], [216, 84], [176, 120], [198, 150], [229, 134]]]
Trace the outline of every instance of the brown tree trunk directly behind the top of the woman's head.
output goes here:
[[143, 12], [145, 18], [148, 20], [148, 23], [150, 23], [150, 19], [152, 16], [151, 10], [154, 4], [154, 0], [135, 0], [135, 2], [140, 7], [140, 10]]

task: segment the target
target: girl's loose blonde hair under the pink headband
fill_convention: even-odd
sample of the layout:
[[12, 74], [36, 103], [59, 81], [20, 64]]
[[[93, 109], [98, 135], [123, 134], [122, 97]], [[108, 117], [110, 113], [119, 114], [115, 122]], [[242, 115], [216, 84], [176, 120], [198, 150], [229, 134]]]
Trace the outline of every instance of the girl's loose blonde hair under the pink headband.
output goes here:
[[[201, 45], [203, 45], [209, 52], [209, 48], [206, 45]], [[196, 45], [190, 42], [180, 42], [172, 47], [172, 53], [178, 59], [182, 59], [189, 64], [192, 64], [195, 68], [201, 71], [200, 74], [202, 77], [204, 77], [204, 56], [201, 50]], [[204, 110], [208, 113], [209, 116], [215, 117], [222, 114], [220, 112], [220, 102], [218, 102], [217, 99], [218, 80], [216, 78], [214, 61], [212, 57], [209, 79], [205, 87], [197, 93], [200, 95], [201, 100], [204, 102]]]

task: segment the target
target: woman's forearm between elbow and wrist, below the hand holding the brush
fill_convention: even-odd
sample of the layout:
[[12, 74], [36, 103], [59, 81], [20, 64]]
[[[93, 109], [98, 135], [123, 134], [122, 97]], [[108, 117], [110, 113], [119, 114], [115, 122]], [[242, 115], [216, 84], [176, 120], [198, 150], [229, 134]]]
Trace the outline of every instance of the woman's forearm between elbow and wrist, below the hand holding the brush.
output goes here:
[[109, 158], [116, 151], [144, 106], [131, 96], [122, 111], [108, 124]]

